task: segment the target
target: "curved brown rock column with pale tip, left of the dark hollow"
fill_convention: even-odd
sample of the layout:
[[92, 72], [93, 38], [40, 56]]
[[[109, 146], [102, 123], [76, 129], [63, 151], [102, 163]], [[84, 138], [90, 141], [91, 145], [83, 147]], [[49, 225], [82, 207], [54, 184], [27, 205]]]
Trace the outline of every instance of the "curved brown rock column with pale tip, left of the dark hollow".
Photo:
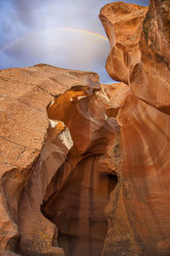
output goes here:
[[[62, 140], [65, 137], [65, 141]], [[33, 168], [32, 175], [23, 190], [18, 207], [20, 229], [20, 252], [25, 254], [51, 253], [64, 255], [61, 248], [52, 247], [56, 227], [40, 211], [48, 184], [73, 143], [70, 132], [65, 125], [58, 123], [48, 128], [48, 138], [42, 148], [39, 160]], [[51, 249], [49, 249], [51, 247]], [[30, 252], [29, 252], [30, 251]]]

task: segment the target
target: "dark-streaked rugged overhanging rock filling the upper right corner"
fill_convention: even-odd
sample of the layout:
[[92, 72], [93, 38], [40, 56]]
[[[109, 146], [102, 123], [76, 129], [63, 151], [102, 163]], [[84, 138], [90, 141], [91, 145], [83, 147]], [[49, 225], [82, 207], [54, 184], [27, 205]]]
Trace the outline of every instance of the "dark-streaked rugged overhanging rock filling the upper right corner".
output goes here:
[[130, 75], [133, 93], [170, 114], [170, 3], [150, 1], [140, 40], [141, 61]]

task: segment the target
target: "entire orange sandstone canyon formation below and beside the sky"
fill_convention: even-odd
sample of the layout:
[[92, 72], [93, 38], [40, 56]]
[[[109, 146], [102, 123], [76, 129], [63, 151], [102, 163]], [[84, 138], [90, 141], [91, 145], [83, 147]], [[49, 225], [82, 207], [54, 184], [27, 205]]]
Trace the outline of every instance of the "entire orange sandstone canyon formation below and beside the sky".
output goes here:
[[0, 256], [170, 255], [170, 2], [99, 19], [118, 83], [0, 70]]

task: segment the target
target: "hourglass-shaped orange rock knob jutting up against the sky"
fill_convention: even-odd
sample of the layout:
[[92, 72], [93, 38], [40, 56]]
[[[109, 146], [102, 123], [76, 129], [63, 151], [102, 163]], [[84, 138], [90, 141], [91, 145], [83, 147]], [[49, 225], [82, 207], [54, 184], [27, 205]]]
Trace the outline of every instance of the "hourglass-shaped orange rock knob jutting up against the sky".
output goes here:
[[129, 73], [140, 60], [139, 39], [147, 7], [129, 3], [109, 3], [99, 18], [111, 44], [105, 67], [112, 79], [128, 84]]

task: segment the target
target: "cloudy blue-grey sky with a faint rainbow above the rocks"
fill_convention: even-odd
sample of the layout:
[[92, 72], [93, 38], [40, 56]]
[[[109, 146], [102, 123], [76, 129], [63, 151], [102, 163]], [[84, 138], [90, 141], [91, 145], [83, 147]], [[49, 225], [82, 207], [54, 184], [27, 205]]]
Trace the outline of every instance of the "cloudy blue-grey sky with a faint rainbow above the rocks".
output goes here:
[[[99, 73], [110, 50], [99, 10], [108, 0], [0, 0], [0, 69], [46, 63]], [[149, 0], [125, 3], [149, 5]]]

